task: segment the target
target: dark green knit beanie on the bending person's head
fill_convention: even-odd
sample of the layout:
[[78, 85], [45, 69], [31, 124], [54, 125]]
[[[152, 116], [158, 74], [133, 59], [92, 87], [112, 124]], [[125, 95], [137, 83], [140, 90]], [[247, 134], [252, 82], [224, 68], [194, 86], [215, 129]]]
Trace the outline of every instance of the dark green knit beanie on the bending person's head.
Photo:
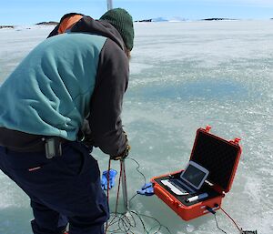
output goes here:
[[126, 48], [132, 50], [134, 46], [134, 25], [132, 16], [125, 9], [116, 8], [106, 12], [100, 17], [111, 25], [115, 26], [120, 36], [124, 40]]

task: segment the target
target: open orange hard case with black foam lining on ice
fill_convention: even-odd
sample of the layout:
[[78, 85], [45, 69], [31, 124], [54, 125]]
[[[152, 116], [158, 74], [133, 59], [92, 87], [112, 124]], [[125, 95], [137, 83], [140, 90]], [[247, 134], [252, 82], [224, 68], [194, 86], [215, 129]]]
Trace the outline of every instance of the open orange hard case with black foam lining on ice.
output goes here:
[[230, 190], [241, 155], [239, 138], [227, 141], [209, 133], [211, 127], [197, 129], [190, 160], [207, 168], [208, 183], [198, 193], [207, 192], [208, 197], [191, 203], [185, 200], [192, 195], [178, 196], [161, 183], [162, 179], [179, 177], [183, 170], [151, 178], [155, 194], [184, 220], [196, 219], [207, 214], [208, 209], [220, 209], [222, 199]]

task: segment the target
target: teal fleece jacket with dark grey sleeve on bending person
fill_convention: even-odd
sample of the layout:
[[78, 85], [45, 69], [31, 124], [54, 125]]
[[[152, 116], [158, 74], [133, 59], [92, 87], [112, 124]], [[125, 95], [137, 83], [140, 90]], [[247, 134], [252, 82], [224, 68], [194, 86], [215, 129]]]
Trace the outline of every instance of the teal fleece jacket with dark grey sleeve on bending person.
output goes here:
[[[94, 146], [113, 156], [123, 152], [128, 59], [116, 29], [107, 27], [115, 41], [70, 33], [36, 46], [0, 86], [0, 128], [73, 141], [88, 117]], [[0, 131], [0, 143], [1, 137]]]

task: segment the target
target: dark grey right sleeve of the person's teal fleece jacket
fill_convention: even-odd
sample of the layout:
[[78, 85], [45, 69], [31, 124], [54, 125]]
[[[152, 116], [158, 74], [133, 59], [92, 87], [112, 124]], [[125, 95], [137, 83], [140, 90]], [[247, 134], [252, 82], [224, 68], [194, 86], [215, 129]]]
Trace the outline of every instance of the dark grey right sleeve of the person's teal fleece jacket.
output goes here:
[[94, 146], [110, 156], [119, 155], [126, 148], [120, 115], [128, 76], [125, 52], [111, 39], [106, 39], [99, 58], [88, 121]]

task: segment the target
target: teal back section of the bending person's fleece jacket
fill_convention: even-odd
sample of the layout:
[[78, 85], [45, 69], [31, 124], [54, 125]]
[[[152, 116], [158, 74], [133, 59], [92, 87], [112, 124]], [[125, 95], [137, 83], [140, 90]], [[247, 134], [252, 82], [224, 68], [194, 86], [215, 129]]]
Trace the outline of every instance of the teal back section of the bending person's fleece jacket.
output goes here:
[[0, 87], [5, 100], [0, 103], [1, 126], [76, 140], [89, 113], [105, 41], [102, 36], [65, 34], [36, 46]]

